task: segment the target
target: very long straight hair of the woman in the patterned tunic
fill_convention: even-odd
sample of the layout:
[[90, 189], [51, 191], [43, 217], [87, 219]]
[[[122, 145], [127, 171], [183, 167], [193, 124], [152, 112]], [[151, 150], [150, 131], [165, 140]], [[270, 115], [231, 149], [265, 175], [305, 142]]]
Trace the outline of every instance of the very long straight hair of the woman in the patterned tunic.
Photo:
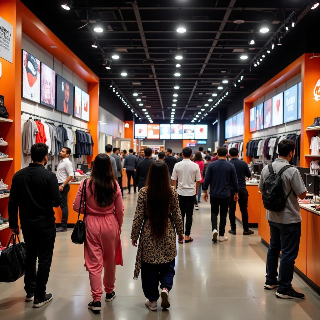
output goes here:
[[151, 164], [147, 187], [147, 215], [151, 234], [156, 239], [161, 239], [167, 232], [168, 215], [172, 205], [172, 188], [165, 162], [156, 160]]

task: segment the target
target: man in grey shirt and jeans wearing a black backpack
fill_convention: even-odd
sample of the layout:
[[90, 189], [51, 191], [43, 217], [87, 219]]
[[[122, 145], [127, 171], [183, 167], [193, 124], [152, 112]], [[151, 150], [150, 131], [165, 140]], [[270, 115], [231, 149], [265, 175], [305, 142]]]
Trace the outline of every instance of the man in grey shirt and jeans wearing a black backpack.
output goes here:
[[262, 169], [259, 181], [270, 227], [267, 280], [264, 287], [268, 290], [278, 287], [276, 297], [283, 299], [304, 298], [303, 293], [296, 292], [291, 286], [294, 260], [298, 256], [301, 236], [302, 219], [297, 197], [304, 199], [307, 194], [300, 172], [289, 165], [295, 155], [295, 148], [296, 144], [292, 140], [279, 142], [279, 158]]

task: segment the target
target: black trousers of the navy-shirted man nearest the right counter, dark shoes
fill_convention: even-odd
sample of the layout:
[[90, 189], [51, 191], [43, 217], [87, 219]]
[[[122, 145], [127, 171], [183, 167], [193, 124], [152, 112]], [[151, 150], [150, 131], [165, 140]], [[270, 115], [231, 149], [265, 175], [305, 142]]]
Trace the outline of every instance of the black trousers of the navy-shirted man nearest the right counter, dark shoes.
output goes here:
[[[235, 191], [230, 190], [230, 204], [229, 204], [229, 220], [231, 225], [231, 230], [236, 231], [236, 201], [233, 201], [233, 197], [235, 196]], [[239, 189], [239, 200], [238, 204], [241, 211], [243, 230], [249, 230], [249, 217], [248, 217], [248, 190], [246, 188]]]

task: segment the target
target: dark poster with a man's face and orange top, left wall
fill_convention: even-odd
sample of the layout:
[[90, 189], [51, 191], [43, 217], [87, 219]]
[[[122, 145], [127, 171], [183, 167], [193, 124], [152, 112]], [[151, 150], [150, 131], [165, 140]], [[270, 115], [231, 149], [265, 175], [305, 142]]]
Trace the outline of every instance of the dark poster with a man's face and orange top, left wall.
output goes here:
[[73, 84], [57, 75], [56, 109], [73, 116]]

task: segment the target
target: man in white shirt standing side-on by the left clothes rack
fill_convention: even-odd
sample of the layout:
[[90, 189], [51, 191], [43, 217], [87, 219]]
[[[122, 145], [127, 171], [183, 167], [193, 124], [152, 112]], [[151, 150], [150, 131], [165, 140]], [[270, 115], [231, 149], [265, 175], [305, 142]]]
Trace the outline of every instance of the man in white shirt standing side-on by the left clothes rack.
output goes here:
[[62, 197], [60, 208], [62, 210], [62, 218], [60, 227], [56, 229], [56, 232], [67, 231], [68, 222], [68, 192], [70, 191], [69, 182], [74, 176], [73, 165], [69, 160], [71, 149], [68, 147], [62, 148], [59, 157], [61, 159], [57, 168], [57, 179], [59, 183], [59, 191]]

